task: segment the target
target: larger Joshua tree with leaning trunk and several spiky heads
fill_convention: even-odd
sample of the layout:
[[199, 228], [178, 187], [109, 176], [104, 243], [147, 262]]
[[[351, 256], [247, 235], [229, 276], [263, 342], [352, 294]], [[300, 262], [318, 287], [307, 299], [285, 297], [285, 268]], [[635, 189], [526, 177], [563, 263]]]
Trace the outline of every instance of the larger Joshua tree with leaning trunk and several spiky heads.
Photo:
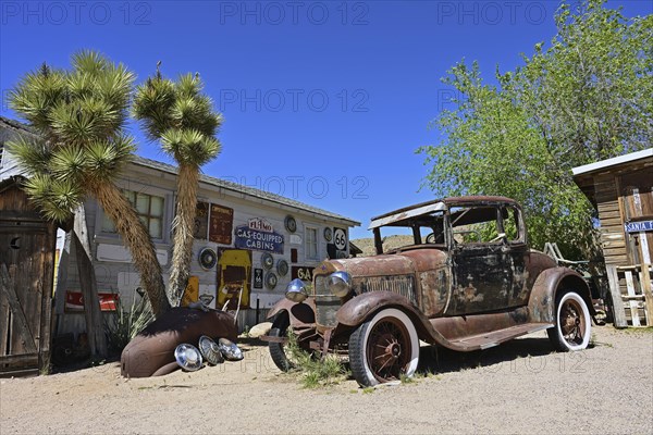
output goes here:
[[116, 187], [134, 140], [123, 132], [134, 75], [101, 54], [73, 55], [71, 71], [44, 64], [12, 89], [11, 108], [38, 133], [9, 149], [27, 170], [25, 188], [44, 214], [69, 221], [86, 196], [95, 197], [132, 252], [152, 311], [170, 308], [151, 238]]

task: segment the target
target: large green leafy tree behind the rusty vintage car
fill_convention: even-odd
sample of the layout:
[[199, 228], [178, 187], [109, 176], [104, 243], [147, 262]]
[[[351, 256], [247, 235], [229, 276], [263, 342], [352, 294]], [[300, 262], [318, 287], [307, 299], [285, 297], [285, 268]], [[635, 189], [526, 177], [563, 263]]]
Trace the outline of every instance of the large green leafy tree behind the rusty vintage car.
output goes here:
[[595, 211], [571, 169], [650, 146], [652, 17], [626, 20], [586, 0], [556, 13], [547, 50], [484, 84], [477, 63], [458, 63], [443, 82], [459, 98], [433, 126], [438, 146], [421, 147], [439, 196], [504, 195], [527, 213], [531, 243], [557, 241], [568, 258], [600, 256]]

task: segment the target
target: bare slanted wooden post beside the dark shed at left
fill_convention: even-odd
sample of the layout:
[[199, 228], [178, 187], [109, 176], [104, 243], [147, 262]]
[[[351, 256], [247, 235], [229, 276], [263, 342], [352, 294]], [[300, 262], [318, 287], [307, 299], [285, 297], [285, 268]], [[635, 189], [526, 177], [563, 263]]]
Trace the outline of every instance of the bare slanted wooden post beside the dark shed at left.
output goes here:
[[104, 335], [104, 324], [102, 322], [102, 312], [100, 311], [100, 300], [98, 298], [84, 206], [79, 206], [75, 211], [75, 227], [72, 238], [75, 244], [75, 258], [77, 260], [79, 286], [82, 287], [90, 356], [106, 358], [108, 355], [107, 336]]

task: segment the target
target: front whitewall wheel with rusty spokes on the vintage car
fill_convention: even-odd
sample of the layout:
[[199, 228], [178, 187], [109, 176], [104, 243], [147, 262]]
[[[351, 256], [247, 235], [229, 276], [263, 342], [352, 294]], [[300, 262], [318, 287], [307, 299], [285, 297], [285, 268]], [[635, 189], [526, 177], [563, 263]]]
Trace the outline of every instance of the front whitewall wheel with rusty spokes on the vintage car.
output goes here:
[[419, 361], [412, 322], [394, 308], [378, 312], [349, 337], [349, 366], [362, 387], [410, 377]]

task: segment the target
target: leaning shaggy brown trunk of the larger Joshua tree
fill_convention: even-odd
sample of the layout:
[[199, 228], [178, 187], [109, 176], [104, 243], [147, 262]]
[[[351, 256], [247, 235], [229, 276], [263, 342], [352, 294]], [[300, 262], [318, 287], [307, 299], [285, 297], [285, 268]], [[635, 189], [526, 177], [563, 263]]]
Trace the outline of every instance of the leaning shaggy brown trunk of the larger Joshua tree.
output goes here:
[[140, 274], [140, 284], [147, 293], [155, 316], [159, 318], [170, 309], [170, 302], [165, 296], [161, 265], [149, 232], [115, 185], [98, 183], [91, 186], [91, 189], [132, 252], [132, 261]]

